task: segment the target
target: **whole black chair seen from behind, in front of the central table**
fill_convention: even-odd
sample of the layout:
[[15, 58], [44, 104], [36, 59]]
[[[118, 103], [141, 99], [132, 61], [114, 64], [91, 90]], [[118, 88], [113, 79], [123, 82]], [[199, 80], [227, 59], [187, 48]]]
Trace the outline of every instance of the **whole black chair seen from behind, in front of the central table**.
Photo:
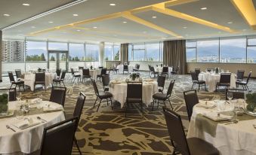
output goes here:
[[128, 109], [128, 105], [132, 103], [140, 104], [140, 111], [143, 114], [143, 101], [142, 101], [142, 82], [128, 82], [127, 84], [127, 95], [126, 95], [126, 107], [125, 107], [125, 117]]

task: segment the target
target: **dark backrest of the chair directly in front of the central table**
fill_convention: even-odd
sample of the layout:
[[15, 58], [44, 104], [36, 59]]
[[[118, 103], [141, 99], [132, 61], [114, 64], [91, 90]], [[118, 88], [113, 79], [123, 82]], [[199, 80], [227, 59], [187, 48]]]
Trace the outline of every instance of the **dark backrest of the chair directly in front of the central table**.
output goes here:
[[142, 82], [128, 82], [127, 98], [142, 99]]

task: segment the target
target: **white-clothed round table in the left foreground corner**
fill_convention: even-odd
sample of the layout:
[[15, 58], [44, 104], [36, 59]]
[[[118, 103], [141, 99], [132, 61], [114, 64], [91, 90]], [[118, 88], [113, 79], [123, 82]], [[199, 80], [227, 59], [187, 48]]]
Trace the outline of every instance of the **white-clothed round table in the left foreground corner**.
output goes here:
[[[61, 106], [54, 102], [43, 101], [41, 103], [36, 103], [31, 105], [33, 107], [45, 107], [45, 106]], [[17, 110], [17, 102], [8, 103], [9, 110]], [[62, 107], [60, 107], [62, 108]], [[62, 108], [63, 109], [63, 108]], [[14, 112], [15, 115], [15, 112]], [[36, 119], [36, 117], [41, 117], [47, 122], [41, 122], [38, 125], [31, 126], [26, 129], [19, 129], [12, 125], [18, 123], [22, 120], [18, 120], [17, 117], [1, 117], [0, 118], [0, 154], [20, 154], [20, 153], [32, 153], [35, 150], [39, 150], [41, 147], [42, 134], [44, 128], [51, 126], [55, 123], [59, 123], [65, 120], [63, 111], [55, 111], [50, 113], [40, 113], [40, 114], [28, 114], [29, 118]], [[7, 129], [6, 125], [11, 126], [16, 132], [11, 129]]]

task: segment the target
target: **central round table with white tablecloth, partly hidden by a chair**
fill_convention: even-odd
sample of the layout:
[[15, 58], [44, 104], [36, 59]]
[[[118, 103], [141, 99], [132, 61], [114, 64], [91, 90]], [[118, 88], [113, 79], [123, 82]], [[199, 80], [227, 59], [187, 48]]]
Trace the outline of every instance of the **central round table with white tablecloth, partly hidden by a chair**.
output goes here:
[[[113, 99], [121, 103], [121, 108], [125, 105], [127, 95], [127, 83], [114, 84], [113, 81], [109, 84], [109, 92], [113, 94]], [[142, 101], [145, 105], [150, 105], [153, 102], [153, 94], [158, 92], [156, 81], [144, 81], [142, 85]]]

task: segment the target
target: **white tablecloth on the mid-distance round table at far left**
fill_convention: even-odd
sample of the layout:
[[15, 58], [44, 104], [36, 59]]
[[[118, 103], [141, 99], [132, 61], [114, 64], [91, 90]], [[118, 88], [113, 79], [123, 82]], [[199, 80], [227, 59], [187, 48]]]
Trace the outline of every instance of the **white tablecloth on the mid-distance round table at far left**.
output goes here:
[[[53, 73], [45, 73], [45, 85], [46, 87], [51, 86], [52, 80], [54, 79], [56, 74]], [[20, 79], [24, 81], [24, 84], [30, 87], [30, 90], [34, 91], [35, 85], [35, 74], [25, 74], [24, 78]]]

